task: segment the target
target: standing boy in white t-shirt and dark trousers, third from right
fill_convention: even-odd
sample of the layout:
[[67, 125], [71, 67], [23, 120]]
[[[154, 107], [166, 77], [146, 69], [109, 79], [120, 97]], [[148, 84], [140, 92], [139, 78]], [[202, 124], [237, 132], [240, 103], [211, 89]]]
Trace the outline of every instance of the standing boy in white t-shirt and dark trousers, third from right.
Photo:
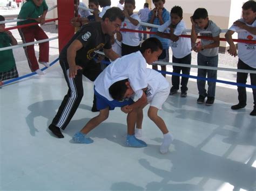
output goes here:
[[[172, 62], [174, 63], [186, 63], [191, 65], [191, 39], [180, 38], [181, 34], [187, 34], [185, 32], [186, 25], [183, 19], [183, 10], [180, 6], [173, 6], [171, 9], [171, 20], [158, 28], [157, 35], [159, 37], [167, 38], [171, 40], [172, 48]], [[170, 29], [170, 33], [164, 33], [166, 29]], [[190, 75], [190, 67], [173, 66], [173, 73], [180, 73]], [[179, 76], [172, 75], [172, 88], [170, 95], [177, 94], [179, 89]], [[181, 77], [181, 97], [187, 96], [187, 83], [188, 77]]]

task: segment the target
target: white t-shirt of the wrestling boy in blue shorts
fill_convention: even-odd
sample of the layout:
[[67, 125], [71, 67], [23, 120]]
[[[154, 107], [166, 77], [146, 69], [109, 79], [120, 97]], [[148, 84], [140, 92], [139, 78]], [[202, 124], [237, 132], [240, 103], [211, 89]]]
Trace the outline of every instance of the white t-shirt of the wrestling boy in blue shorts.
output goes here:
[[95, 89], [107, 100], [113, 101], [109, 88], [114, 82], [124, 79], [129, 79], [131, 88], [136, 91], [136, 96], [142, 97], [142, 89], [147, 87], [147, 82], [146, 60], [140, 51], [118, 58], [107, 66], [95, 80]]

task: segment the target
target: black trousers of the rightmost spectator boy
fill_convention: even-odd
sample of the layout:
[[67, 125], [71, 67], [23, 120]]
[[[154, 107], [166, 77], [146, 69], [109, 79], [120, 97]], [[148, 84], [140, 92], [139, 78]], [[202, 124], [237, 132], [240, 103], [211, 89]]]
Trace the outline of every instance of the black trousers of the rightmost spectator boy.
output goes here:
[[[246, 65], [245, 62], [238, 60], [238, 69], [250, 69], [250, 70], [256, 70], [256, 68], [252, 68], [248, 65]], [[248, 73], [237, 73], [237, 83], [243, 83], [246, 84], [248, 77]], [[256, 74], [250, 74], [251, 77], [251, 84], [252, 86], [256, 86]], [[239, 104], [245, 105], [246, 104], [246, 88], [245, 87], [237, 87], [238, 90], [238, 101]], [[256, 89], [252, 89], [253, 93], [253, 101], [254, 101], [254, 109], [256, 109]]]

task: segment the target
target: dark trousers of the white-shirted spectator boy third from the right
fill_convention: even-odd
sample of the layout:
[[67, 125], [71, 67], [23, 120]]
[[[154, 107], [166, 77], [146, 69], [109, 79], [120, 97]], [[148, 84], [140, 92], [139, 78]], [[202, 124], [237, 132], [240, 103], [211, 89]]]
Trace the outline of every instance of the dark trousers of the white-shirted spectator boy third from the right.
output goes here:
[[[187, 65], [191, 65], [191, 53], [186, 55], [183, 58], [175, 58], [172, 56], [172, 62], [173, 63], [186, 63]], [[178, 73], [182, 71], [182, 74], [190, 75], [190, 67], [181, 67], [181, 66], [172, 66], [173, 67], [173, 73]], [[172, 75], [172, 89], [179, 89], [179, 79], [180, 76]], [[187, 91], [187, 82], [188, 77], [181, 77], [181, 91]]]

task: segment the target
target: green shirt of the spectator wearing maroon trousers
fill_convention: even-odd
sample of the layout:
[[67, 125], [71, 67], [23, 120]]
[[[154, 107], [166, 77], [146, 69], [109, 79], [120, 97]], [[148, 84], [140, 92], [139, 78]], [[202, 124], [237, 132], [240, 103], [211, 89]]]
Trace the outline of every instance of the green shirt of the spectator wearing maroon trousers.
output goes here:
[[[45, 0], [43, 1], [41, 6], [36, 6], [32, 0], [27, 1], [22, 5], [21, 11], [19, 11], [18, 18], [19, 19], [27, 19], [27, 18], [38, 18], [39, 16], [43, 15], [43, 12], [48, 10], [48, 6], [46, 5]], [[29, 23], [37, 23], [36, 20], [24, 20], [17, 22], [17, 25], [25, 25]]]

